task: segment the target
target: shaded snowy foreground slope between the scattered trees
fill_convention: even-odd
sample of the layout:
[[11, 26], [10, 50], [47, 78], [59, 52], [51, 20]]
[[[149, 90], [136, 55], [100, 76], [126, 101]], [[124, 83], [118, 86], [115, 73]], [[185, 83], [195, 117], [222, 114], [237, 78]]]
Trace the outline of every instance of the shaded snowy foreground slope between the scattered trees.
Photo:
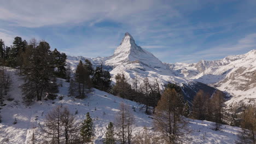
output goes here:
[[[22, 85], [23, 80], [17, 75], [19, 71], [10, 68], [8, 71], [10, 71], [11, 81], [13, 81], [8, 95], [14, 100], [5, 100], [4, 103], [7, 105], [3, 106], [1, 110], [3, 118], [2, 123], [0, 123], [0, 143], [30, 143], [33, 132], [36, 139], [38, 139], [40, 137], [38, 135], [40, 129], [38, 123], [42, 124], [45, 115], [57, 105], [68, 106], [72, 113], [78, 110], [78, 114], [75, 115], [77, 122], [82, 122], [85, 118], [85, 113], [90, 112], [90, 115], [94, 118], [96, 129], [94, 143], [102, 143], [106, 126], [109, 122], [115, 123], [115, 115], [119, 111], [121, 102], [130, 107], [135, 107], [135, 111], [132, 111], [136, 121], [133, 134], [136, 135], [145, 126], [149, 128], [153, 126], [152, 118], [144, 114], [137, 103], [97, 89], [92, 89], [87, 98], [73, 101], [67, 97], [69, 83], [62, 79], [58, 79], [58, 82], [63, 85], [59, 87], [60, 92], [58, 93], [59, 97], [63, 97], [62, 100], [38, 101], [27, 107], [22, 104], [19, 86]], [[13, 124], [15, 118], [17, 123]], [[222, 125], [222, 130], [220, 131], [212, 130], [213, 127], [214, 123], [212, 122], [189, 119], [189, 128], [192, 131], [187, 135], [189, 138], [187, 143], [235, 143], [237, 133], [240, 131], [240, 128], [228, 125]]]

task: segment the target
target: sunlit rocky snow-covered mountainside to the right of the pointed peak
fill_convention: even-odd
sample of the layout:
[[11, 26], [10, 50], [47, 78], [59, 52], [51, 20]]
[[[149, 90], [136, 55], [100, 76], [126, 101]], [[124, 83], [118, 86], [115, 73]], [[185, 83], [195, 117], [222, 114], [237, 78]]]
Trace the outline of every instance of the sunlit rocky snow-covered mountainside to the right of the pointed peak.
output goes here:
[[256, 50], [243, 55], [228, 56], [217, 61], [200, 61], [193, 64], [166, 64], [177, 70], [181, 77], [206, 83], [232, 97], [228, 105], [256, 100]]

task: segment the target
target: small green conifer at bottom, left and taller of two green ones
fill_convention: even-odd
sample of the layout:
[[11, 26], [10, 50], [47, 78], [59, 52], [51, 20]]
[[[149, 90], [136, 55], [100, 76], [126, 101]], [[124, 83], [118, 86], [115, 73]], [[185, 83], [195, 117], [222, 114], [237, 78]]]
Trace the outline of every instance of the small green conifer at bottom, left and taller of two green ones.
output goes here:
[[90, 117], [90, 113], [86, 114], [86, 119], [82, 123], [82, 128], [80, 129], [80, 135], [82, 136], [83, 142], [91, 142], [94, 136], [94, 121]]

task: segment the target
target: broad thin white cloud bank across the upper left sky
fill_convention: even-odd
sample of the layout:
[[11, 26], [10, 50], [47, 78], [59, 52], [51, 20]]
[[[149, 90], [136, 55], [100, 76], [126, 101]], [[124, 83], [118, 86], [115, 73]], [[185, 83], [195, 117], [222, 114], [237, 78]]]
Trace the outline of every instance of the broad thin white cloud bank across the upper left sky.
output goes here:
[[[158, 7], [153, 0], [139, 1], [5, 1], [0, 5], [0, 19], [22, 27], [42, 27], [63, 23], [90, 22], [90, 25], [104, 19], [122, 22], [152, 19], [147, 15]], [[167, 7], [165, 8], [167, 9]], [[172, 16], [178, 13], [172, 11]], [[158, 13], [157, 13], [158, 14]]]

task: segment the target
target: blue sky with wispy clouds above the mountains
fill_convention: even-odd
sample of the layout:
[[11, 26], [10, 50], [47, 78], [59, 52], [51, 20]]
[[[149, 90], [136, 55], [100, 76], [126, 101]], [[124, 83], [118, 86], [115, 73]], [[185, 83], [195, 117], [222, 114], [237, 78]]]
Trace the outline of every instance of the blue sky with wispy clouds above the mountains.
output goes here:
[[0, 38], [46, 40], [72, 56], [110, 56], [129, 32], [162, 62], [198, 62], [256, 49], [255, 0], [0, 0]]

